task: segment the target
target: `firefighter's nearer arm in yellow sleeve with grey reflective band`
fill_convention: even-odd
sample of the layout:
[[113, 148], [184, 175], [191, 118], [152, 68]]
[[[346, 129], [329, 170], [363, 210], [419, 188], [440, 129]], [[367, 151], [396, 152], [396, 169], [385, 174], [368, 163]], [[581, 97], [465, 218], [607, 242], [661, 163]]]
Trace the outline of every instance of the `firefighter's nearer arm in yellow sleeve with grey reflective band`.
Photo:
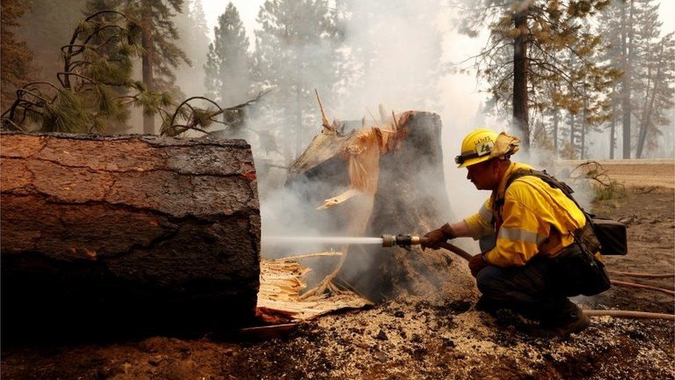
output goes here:
[[[539, 251], [541, 244], [551, 226], [542, 222], [539, 215], [530, 206], [528, 193], [524, 186], [515, 186], [514, 183], [505, 197], [502, 215], [504, 217], [499, 233], [497, 245], [486, 253], [485, 259], [489, 264], [497, 266], [522, 266], [525, 265]], [[525, 191], [523, 191], [525, 190]]]

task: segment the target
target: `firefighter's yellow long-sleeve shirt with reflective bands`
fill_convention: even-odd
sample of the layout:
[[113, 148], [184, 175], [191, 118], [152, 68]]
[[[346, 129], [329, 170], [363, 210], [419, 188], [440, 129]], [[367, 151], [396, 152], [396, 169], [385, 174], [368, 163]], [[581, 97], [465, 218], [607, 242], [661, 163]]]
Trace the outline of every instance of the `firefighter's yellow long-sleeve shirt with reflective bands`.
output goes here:
[[[584, 213], [562, 190], [537, 177], [520, 177], [505, 193], [508, 177], [528, 169], [532, 167], [511, 163], [481, 210], [464, 219], [474, 239], [497, 233], [497, 245], [486, 253], [490, 264], [521, 266], [535, 255], [555, 257], [573, 243], [574, 231], [586, 224]], [[497, 210], [498, 199], [503, 199], [501, 210]]]

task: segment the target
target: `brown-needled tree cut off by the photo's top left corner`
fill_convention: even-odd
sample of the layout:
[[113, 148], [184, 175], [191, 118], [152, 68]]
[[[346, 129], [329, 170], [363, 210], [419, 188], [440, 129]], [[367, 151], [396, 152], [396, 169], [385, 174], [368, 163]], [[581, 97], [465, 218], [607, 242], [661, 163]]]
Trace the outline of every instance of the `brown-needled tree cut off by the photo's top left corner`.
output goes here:
[[26, 82], [34, 71], [33, 52], [25, 41], [19, 41], [15, 29], [19, 26], [21, 15], [28, 10], [22, 1], [3, 0], [1, 3], [0, 24], [0, 78], [2, 78], [2, 109], [6, 109], [14, 98], [17, 88]]

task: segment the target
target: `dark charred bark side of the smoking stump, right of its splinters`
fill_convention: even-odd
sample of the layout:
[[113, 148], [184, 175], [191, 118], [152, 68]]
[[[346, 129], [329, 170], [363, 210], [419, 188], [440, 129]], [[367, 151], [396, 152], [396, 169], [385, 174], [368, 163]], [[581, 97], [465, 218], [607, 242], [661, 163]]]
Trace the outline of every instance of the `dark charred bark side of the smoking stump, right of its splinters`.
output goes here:
[[[423, 235], [456, 220], [445, 188], [441, 118], [416, 112], [401, 127], [406, 138], [400, 148], [380, 159], [378, 191], [367, 229], [370, 236]], [[456, 281], [459, 292], [473, 289], [470, 276], [463, 273], [466, 263], [447, 251], [369, 246], [364, 256], [359, 248], [351, 248], [342, 277], [371, 300], [400, 291], [433, 294], [449, 278]]]

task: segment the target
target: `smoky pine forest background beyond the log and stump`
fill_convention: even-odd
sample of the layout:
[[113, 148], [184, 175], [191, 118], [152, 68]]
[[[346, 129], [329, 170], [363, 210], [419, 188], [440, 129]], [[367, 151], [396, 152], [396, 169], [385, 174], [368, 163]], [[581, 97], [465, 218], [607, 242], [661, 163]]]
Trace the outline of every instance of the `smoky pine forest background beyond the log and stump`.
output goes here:
[[[486, 40], [463, 62], [443, 60], [446, 14]], [[199, 0], [3, 0], [2, 127], [247, 138], [287, 166], [321, 125], [315, 89], [333, 116], [382, 93], [434, 111], [441, 78], [470, 73], [481, 117], [525, 150], [674, 157], [675, 40], [658, 17], [655, 0], [268, 0], [250, 41], [232, 3], [211, 31]]]

